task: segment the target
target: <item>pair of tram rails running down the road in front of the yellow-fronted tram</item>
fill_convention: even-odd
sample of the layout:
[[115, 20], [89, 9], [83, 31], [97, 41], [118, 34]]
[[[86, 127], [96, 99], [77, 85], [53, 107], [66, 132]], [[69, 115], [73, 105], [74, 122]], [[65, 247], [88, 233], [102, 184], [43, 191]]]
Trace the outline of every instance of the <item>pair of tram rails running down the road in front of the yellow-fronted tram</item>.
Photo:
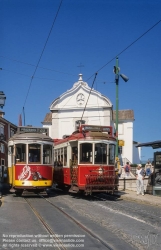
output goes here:
[[[69, 215], [67, 212], [65, 212], [63, 209], [61, 209], [59, 206], [55, 205], [53, 202], [51, 202], [49, 199], [47, 199], [44, 195], [41, 195], [41, 194], [37, 194], [37, 195], [39, 197], [41, 197], [42, 199], [44, 199], [52, 207], [54, 207], [55, 209], [57, 209], [57, 211], [59, 211], [60, 213], [62, 213], [63, 215], [65, 215], [68, 218], [68, 220], [72, 221], [75, 225], [77, 225], [85, 233], [87, 233], [92, 238], [94, 238], [95, 240], [97, 240], [98, 242], [100, 242], [101, 245], [103, 246], [103, 249], [113, 250], [113, 248], [111, 248], [111, 246], [109, 244], [107, 244], [106, 241], [104, 241], [103, 239], [101, 239], [97, 234], [95, 234], [91, 229], [89, 229], [85, 225], [83, 225], [80, 221], [78, 221], [77, 219], [73, 218], [71, 215]], [[59, 249], [59, 250], [66, 250], [67, 248], [63, 245], [63, 243], [61, 242], [61, 239], [56, 236], [55, 232], [52, 230], [52, 228], [49, 226], [49, 224], [43, 219], [43, 217], [40, 215], [40, 213], [37, 211], [37, 209], [35, 209], [33, 207], [33, 205], [31, 204], [31, 202], [29, 201], [29, 199], [28, 198], [24, 198], [24, 199], [27, 202], [27, 204], [29, 205], [29, 207], [31, 208], [31, 210], [34, 212], [35, 216], [39, 219], [39, 221], [45, 227], [46, 231], [50, 235], [52, 235], [52, 238], [54, 240], [56, 240], [57, 242], [59, 242], [58, 244], [60, 246], [57, 249]]]

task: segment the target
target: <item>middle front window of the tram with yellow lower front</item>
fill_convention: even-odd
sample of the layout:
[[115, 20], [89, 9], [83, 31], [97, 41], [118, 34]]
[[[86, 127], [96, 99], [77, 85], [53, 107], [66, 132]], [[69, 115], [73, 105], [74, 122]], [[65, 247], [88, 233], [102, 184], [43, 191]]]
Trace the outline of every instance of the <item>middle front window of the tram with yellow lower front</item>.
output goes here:
[[39, 162], [40, 163], [40, 152], [41, 145], [40, 144], [29, 144], [29, 162]]

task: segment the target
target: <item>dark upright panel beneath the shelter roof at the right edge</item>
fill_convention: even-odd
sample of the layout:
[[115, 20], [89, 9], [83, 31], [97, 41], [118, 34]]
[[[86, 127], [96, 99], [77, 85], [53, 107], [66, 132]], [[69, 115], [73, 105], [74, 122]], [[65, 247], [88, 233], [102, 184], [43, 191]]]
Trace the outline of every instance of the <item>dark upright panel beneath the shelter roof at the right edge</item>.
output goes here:
[[154, 153], [153, 195], [161, 196], [161, 152]]

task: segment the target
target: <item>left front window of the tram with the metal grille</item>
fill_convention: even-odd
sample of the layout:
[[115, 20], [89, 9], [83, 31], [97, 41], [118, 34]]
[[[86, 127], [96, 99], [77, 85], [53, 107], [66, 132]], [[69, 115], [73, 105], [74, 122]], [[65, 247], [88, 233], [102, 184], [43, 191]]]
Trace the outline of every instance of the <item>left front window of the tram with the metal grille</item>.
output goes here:
[[80, 163], [92, 163], [92, 144], [80, 144]]

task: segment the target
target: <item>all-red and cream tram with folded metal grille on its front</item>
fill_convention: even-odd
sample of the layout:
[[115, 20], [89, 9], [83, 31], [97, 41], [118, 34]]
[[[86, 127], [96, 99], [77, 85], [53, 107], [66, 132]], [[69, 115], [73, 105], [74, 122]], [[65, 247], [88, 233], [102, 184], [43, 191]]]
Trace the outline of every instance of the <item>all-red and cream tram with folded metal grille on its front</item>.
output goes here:
[[63, 139], [54, 139], [54, 182], [69, 192], [114, 193], [116, 138], [111, 126], [81, 125]]

